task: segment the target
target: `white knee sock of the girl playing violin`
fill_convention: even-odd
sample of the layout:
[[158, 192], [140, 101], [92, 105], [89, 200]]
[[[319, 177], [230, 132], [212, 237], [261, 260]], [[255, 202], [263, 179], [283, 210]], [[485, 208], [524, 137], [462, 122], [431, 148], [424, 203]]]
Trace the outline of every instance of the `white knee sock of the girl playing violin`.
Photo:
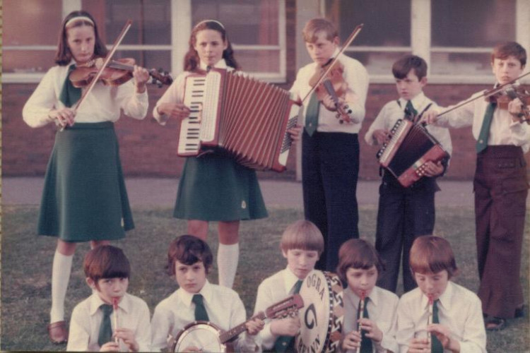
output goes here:
[[52, 265], [52, 310], [49, 313], [49, 322], [56, 323], [64, 320], [64, 299], [70, 280], [73, 255], [66, 256], [55, 251]]

